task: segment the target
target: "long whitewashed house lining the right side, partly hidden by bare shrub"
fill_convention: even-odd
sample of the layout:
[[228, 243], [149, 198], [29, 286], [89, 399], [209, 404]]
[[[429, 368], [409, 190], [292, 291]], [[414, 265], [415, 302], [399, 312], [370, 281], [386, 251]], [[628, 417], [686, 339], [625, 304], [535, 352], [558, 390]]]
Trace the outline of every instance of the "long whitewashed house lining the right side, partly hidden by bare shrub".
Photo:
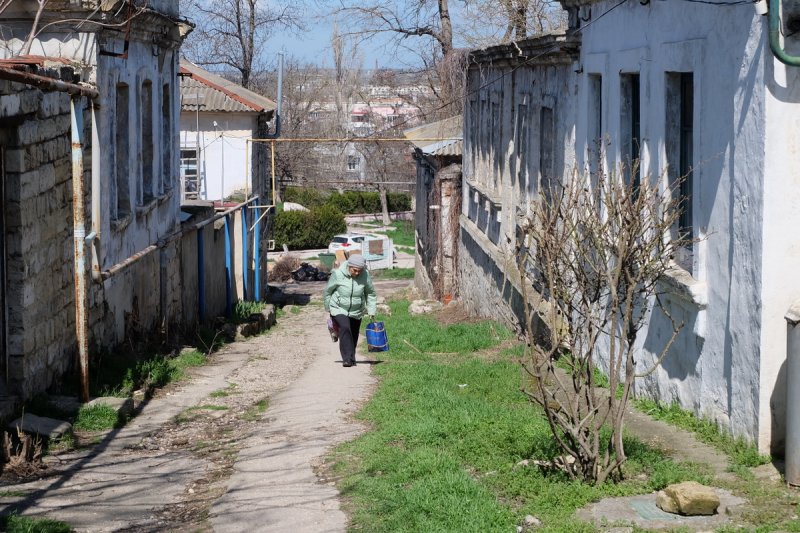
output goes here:
[[[780, 5], [781, 2], [774, 2]], [[679, 231], [696, 239], [662, 280], [685, 326], [636, 393], [782, 447], [786, 323], [800, 293], [800, 70], [791, 32], [770, 35], [750, 3], [563, 0], [569, 37], [473, 54], [465, 116], [461, 292], [503, 308], [515, 212], [543, 181], [638, 161], [638, 179], [685, 177]], [[784, 3], [783, 19], [797, 6]], [[794, 10], [794, 11], [793, 11]], [[776, 28], [781, 21], [773, 11]], [[770, 43], [772, 37], [772, 43]], [[772, 44], [772, 47], [770, 46]], [[771, 49], [772, 48], [772, 49]], [[786, 52], [789, 50], [790, 52]], [[788, 59], [787, 57], [788, 56]], [[476, 279], [476, 268], [486, 276]], [[646, 367], [666, 338], [654, 313]]]

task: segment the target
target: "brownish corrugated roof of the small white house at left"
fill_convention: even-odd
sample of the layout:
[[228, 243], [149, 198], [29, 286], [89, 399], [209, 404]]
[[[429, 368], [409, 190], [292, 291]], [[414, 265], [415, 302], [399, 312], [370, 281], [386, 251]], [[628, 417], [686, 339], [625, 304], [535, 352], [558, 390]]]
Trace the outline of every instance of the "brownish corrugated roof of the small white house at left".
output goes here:
[[263, 113], [275, 110], [275, 102], [241, 85], [181, 60], [181, 110]]

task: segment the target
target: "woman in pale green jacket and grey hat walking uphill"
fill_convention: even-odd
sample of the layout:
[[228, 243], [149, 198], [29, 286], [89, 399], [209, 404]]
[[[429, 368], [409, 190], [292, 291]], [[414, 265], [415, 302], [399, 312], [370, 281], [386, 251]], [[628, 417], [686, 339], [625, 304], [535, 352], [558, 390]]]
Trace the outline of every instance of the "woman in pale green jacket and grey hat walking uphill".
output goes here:
[[352, 255], [334, 270], [325, 287], [325, 310], [339, 326], [339, 353], [342, 366], [356, 364], [356, 345], [361, 319], [375, 315], [378, 297], [366, 261], [360, 254]]

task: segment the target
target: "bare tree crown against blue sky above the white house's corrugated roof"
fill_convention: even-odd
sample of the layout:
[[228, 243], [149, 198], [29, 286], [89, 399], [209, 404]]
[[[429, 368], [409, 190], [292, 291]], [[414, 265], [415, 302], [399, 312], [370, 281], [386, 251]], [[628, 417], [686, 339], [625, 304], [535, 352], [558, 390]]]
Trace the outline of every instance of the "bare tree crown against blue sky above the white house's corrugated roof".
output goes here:
[[253, 72], [264, 67], [265, 42], [276, 28], [299, 29], [298, 4], [266, 0], [185, 0], [197, 24], [184, 51], [200, 65], [235, 69], [250, 88]]

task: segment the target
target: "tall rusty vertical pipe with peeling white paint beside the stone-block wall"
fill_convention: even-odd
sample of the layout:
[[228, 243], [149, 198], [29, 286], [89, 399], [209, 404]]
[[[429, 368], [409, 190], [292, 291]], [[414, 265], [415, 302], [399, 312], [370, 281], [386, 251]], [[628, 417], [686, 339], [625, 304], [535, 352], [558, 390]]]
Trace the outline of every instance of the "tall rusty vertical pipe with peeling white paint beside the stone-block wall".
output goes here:
[[[83, 183], [83, 98], [70, 100], [72, 133], [72, 220], [75, 246], [75, 334], [78, 341], [78, 365], [81, 376], [81, 400], [89, 401], [89, 320], [86, 287], [86, 213]], [[94, 236], [91, 236], [94, 238]]]

